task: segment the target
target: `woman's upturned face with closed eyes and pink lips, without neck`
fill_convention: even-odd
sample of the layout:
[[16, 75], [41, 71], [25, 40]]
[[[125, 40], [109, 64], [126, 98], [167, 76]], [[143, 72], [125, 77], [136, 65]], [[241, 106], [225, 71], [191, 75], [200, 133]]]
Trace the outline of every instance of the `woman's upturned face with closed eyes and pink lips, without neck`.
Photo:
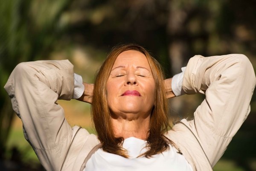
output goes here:
[[147, 117], [154, 99], [154, 78], [145, 55], [135, 50], [120, 53], [107, 82], [107, 101], [112, 113]]

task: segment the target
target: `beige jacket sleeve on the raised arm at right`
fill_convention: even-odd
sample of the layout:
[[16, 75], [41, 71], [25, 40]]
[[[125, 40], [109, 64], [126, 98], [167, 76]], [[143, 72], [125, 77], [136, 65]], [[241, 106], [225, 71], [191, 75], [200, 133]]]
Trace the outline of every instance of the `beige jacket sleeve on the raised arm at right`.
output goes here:
[[252, 64], [245, 55], [196, 55], [189, 60], [182, 88], [186, 94], [205, 94], [189, 126], [212, 166], [250, 113], [255, 84]]

